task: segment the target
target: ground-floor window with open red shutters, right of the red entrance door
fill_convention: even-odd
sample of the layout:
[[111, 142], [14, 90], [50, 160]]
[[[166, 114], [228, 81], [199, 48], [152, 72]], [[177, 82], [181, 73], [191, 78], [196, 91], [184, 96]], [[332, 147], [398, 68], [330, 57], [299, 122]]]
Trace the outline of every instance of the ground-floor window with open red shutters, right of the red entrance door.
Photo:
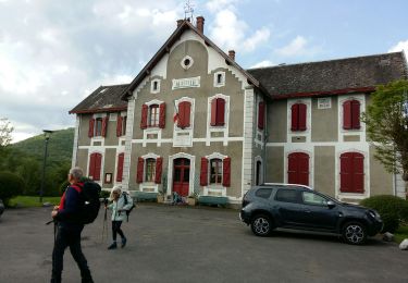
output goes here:
[[[210, 176], [208, 176], [209, 163]], [[211, 185], [222, 185], [225, 187], [231, 186], [231, 158], [213, 158], [210, 159], [210, 162], [209, 159], [205, 157], [201, 158], [200, 185], [207, 186], [209, 183]]]

